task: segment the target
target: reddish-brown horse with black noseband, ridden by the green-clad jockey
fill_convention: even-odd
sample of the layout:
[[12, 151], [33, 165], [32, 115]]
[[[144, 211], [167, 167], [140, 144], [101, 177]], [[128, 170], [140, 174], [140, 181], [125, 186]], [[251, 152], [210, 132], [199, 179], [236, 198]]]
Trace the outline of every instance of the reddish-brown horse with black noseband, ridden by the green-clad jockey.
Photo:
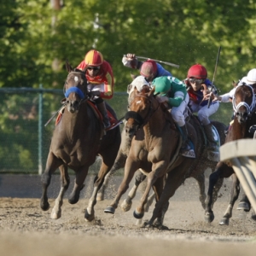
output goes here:
[[[201, 203], [204, 207], [206, 198], [204, 187], [204, 171], [206, 166], [212, 167], [216, 162], [207, 160], [206, 137], [201, 128], [199, 120], [190, 116], [188, 123], [189, 137], [194, 146], [196, 159], [185, 158], [179, 155], [182, 138], [177, 130], [172, 115], [164, 105], [160, 104], [154, 96], [154, 89], [143, 89], [142, 92], [134, 90], [131, 106], [126, 113], [126, 136], [131, 137], [131, 148], [125, 163], [125, 175], [119, 186], [118, 194], [113, 202], [105, 209], [105, 212], [114, 213], [118, 207], [121, 196], [128, 189], [131, 178], [137, 169], [141, 168], [148, 175], [148, 183], [143, 197], [134, 211], [135, 218], [143, 218], [144, 207], [148, 199], [148, 192], [153, 187], [156, 201], [152, 218], [148, 224], [151, 225], [156, 219], [161, 226], [162, 212], [168, 204], [168, 200], [174, 195], [176, 189], [187, 177], [195, 177], [201, 180]], [[225, 125], [214, 122], [224, 143]], [[162, 193], [164, 177], [168, 177]]]

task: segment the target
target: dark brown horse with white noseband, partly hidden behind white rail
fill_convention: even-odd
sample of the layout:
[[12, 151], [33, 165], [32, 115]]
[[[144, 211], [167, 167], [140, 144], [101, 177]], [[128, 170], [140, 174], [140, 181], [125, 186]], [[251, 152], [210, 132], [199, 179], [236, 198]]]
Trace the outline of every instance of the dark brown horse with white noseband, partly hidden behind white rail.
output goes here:
[[[233, 109], [235, 113], [234, 122], [232, 125], [230, 125], [230, 129], [225, 139], [225, 143], [236, 141], [242, 138], [253, 137], [253, 134], [250, 133], [249, 130], [252, 125], [256, 124], [256, 112], [254, 109], [254, 104], [255, 102], [253, 88], [247, 84], [237, 85], [235, 95], [233, 97]], [[224, 212], [224, 216], [219, 224], [228, 225], [230, 223], [230, 218], [232, 217], [232, 210], [240, 193], [240, 183], [230, 162], [222, 161], [218, 162], [216, 170], [212, 172], [209, 178], [209, 188], [207, 192], [205, 211], [205, 220], [207, 221], [207, 223], [211, 223], [214, 219], [214, 214], [212, 211], [213, 188], [219, 179], [230, 176], [232, 176], [233, 181], [230, 195], [230, 204]], [[244, 201], [247, 201], [247, 199], [245, 198]], [[256, 218], [256, 216], [254, 218]]]

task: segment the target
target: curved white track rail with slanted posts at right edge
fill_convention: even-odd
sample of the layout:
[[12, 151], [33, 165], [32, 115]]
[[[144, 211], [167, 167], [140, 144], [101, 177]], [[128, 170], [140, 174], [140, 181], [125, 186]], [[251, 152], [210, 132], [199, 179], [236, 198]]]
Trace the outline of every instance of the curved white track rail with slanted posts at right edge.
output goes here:
[[230, 160], [248, 200], [256, 212], [256, 140], [241, 139], [219, 148], [220, 160]]

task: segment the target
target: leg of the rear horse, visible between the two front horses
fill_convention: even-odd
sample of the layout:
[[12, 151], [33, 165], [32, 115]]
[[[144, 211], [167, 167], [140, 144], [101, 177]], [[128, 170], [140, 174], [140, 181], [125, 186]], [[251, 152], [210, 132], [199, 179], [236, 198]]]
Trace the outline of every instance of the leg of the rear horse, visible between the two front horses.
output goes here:
[[102, 183], [102, 187], [101, 187], [101, 189], [99, 189], [99, 191], [97, 193], [96, 201], [103, 201], [104, 200], [104, 193], [105, 193], [105, 189], [108, 186], [109, 178], [114, 174], [114, 172], [116, 172], [120, 168], [125, 167], [125, 160], [126, 159], [127, 159], [126, 154], [122, 154], [122, 153], [118, 154], [116, 160], [114, 161], [113, 167], [111, 168], [111, 170], [108, 172], [108, 174], [104, 178], [104, 182]]

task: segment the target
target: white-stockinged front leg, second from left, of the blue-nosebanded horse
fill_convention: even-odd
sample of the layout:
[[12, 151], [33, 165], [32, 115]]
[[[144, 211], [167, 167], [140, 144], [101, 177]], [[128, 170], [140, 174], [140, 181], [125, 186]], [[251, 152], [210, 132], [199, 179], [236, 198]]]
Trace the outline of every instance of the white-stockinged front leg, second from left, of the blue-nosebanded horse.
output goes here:
[[59, 167], [59, 169], [61, 172], [61, 191], [58, 197], [55, 199], [55, 206], [53, 207], [50, 215], [50, 218], [54, 219], [61, 218], [61, 206], [63, 204], [63, 197], [70, 183], [70, 178], [67, 173], [67, 166], [62, 165]]

